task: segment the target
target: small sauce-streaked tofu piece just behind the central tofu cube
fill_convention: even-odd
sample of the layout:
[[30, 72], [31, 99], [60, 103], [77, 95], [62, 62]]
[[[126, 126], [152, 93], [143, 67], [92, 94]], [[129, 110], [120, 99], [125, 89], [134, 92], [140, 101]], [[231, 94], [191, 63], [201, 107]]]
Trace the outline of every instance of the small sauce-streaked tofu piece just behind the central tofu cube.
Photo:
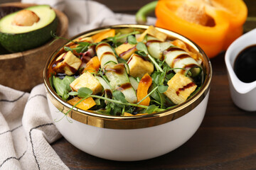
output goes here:
[[124, 60], [128, 60], [129, 57], [137, 50], [136, 45], [131, 45], [128, 42], [122, 45], [119, 45], [114, 49], [117, 52], [117, 55]]

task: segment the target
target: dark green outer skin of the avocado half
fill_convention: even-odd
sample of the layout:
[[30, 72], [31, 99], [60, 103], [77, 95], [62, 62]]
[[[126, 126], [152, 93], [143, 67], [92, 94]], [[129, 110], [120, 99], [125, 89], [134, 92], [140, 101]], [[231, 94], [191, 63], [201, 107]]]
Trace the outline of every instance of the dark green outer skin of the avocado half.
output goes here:
[[52, 31], [55, 33], [57, 27], [58, 18], [55, 17], [53, 22], [47, 26], [28, 33], [11, 34], [0, 32], [0, 42], [1, 45], [9, 52], [30, 50], [32, 48], [39, 47], [52, 39], [53, 37], [50, 32]]

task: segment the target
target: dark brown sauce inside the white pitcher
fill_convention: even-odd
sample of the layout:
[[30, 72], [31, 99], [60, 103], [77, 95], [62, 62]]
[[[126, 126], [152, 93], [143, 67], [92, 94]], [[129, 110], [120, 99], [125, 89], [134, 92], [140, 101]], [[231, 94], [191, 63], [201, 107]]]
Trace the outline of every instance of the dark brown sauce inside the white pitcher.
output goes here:
[[238, 54], [234, 71], [240, 81], [250, 83], [256, 80], [256, 45], [246, 47]]

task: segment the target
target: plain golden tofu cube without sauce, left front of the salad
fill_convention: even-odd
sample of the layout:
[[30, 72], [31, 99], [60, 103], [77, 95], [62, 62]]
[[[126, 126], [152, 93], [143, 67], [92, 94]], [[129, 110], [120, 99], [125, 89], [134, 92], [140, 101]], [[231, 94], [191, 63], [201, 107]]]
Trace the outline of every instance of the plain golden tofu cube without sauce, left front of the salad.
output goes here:
[[92, 94], [98, 94], [102, 91], [102, 85], [90, 72], [84, 72], [80, 77], [70, 84], [73, 91], [78, 91], [81, 87], [87, 87], [93, 91]]

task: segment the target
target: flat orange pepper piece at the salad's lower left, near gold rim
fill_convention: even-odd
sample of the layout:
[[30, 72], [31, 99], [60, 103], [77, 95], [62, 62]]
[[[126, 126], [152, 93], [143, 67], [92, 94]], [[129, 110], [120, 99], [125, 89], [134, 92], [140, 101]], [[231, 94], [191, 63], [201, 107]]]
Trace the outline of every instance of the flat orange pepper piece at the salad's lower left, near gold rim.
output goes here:
[[[76, 103], [78, 103], [78, 102], [81, 101], [81, 100], [82, 100], [82, 98], [75, 97], [75, 98], [70, 99], [70, 100], [68, 101], [68, 103], [69, 103], [70, 105], [73, 105], [73, 106], [74, 106]], [[81, 102], [80, 102], [77, 106], [75, 106], [75, 107], [80, 108], [80, 109], [82, 109], [82, 110], [84, 110], [84, 111], [87, 111], [89, 108], [92, 108], [92, 107], [95, 106], [95, 105], [96, 105], [95, 101], [93, 100], [92, 97], [90, 97], [90, 98], [85, 98], [85, 100], [81, 101]]]

